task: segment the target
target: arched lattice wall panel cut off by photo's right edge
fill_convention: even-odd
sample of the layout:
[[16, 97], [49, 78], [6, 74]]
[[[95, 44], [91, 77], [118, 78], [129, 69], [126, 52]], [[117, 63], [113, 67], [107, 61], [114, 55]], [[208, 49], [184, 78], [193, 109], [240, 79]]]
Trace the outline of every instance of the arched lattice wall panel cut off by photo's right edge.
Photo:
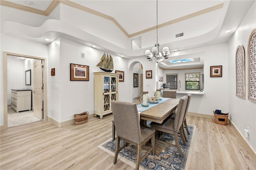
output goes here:
[[248, 100], [256, 103], [256, 29], [252, 30], [247, 46]]

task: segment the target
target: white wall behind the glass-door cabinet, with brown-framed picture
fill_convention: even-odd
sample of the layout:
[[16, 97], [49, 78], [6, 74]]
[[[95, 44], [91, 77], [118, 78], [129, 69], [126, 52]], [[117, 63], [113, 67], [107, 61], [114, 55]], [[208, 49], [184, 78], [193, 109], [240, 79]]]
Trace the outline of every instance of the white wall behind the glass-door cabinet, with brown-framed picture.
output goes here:
[[[81, 52], [85, 58], [81, 58]], [[48, 115], [58, 122], [74, 118], [74, 114], [94, 113], [94, 73], [103, 51], [60, 38], [49, 45], [49, 72], [55, 68], [55, 76], [48, 75]], [[119, 82], [119, 100], [128, 101], [129, 86], [127, 59], [112, 55], [114, 71], [124, 71], [124, 82]], [[70, 81], [70, 63], [89, 66], [89, 81]], [[128, 83], [127, 83], [128, 82]], [[58, 84], [58, 88], [52, 88]]]

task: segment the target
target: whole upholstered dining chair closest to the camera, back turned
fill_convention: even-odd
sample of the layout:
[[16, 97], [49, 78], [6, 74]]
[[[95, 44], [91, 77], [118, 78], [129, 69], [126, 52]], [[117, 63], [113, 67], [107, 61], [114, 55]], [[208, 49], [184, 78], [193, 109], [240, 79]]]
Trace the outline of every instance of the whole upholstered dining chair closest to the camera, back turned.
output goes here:
[[[114, 164], [116, 164], [118, 153], [129, 144], [137, 146], [136, 170], [140, 168], [140, 162], [152, 151], [155, 154], [155, 130], [140, 125], [140, 118], [136, 103], [112, 101], [112, 113], [114, 116], [114, 126], [116, 128], [116, 153]], [[125, 142], [119, 148], [120, 140]], [[151, 140], [151, 147], [141, 158], [141, 148]]]

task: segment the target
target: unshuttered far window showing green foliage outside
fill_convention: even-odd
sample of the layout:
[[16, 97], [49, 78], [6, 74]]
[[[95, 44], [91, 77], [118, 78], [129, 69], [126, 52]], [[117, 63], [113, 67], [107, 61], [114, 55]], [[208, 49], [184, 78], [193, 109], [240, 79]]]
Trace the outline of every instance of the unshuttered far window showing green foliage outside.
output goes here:
[[200, 73], [186, 73], [186, 90], [200, 89]]

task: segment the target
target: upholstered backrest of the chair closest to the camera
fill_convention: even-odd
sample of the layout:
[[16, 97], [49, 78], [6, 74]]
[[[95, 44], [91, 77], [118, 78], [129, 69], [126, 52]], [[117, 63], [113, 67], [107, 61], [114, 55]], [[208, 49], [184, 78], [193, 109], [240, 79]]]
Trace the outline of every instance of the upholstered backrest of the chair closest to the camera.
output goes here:
[[136, 103], [111, 101], [116, 136], [140, 144], [140, 118]]

